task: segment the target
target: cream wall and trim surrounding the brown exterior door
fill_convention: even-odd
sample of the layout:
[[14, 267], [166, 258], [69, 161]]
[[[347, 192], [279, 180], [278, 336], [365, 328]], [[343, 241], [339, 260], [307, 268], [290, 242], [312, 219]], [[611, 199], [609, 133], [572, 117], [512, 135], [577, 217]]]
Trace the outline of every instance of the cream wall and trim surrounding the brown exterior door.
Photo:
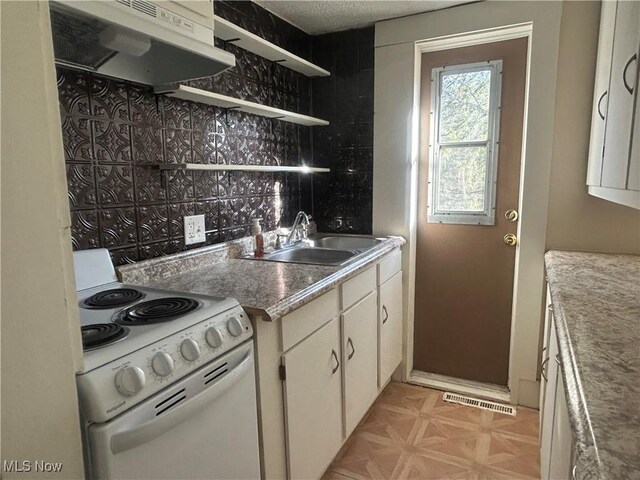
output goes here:
[[[515, 323], [509, 387], [512, 401], [537, 404], [537, 339], [544, 286], [543, 255], [549, 172], [553, 147], [555, 78], [561, 18], [560, 2], [480, 2], [376, 24], [374, 98], [374, 233], [408, 239], [403, 255], [407, 312], [406, 349], [411, 358], [415, 228], [411, 210], [415, 188], [414, 59], [416, 41], [530, 23], [532, 37], [529, 109], [520, 205], [521, 243], [517, 251]], [[522, 294], [519, 294], [521, 292]], [[405, 365], [405, 367], [407, 367]], [[405, 368], [405, 377], [408, 368]]]

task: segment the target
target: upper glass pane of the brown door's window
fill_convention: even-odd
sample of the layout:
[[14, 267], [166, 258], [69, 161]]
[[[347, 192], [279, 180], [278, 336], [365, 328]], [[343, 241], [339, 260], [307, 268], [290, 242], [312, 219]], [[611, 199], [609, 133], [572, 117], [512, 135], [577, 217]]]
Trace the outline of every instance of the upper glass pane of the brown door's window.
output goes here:
[[442, 73], [440, 142], [484, 141], [489, 136], [491, 70]]

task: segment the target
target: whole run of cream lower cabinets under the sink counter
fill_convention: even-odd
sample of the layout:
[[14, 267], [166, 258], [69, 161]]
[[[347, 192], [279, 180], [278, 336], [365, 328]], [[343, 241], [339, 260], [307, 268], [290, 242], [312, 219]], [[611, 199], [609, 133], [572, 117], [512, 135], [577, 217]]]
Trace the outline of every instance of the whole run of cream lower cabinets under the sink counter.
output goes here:
[[[287, 314], [279, 328], [257, 328], [258, 376], [270, 372], [282, 381], [278, 399], [264, 380], [261, 405], [281, 401], [284, 415], [283, 431], [270, 424], [268, 432], [280, 443], [263, 440], [263, 476], [285, 477], [278, 456], [285, 453], [287, 478], [319, 479], [400, 364], [400, 250]], [[278, 371], [268, 370], [264, 359], [276, 352]]]

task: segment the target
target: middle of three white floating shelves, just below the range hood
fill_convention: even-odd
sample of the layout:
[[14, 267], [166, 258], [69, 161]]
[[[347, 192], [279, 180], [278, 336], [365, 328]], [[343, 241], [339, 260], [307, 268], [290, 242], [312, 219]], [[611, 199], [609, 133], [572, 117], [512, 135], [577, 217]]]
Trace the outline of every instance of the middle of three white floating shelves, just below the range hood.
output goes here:
[[248, 102], [239, 98], [220, 95], [219, 93], [208, 92], [199, 88], [188, 87], [186, 85], [170, 84], [154, 87], [157, 94], [167, 95], [169, 97], [180, 98], [181, 100], [190, 100], [192, 102], [206, 103], [221, 108], [235, 109], [240, 112], [260, 115], [262, 117], [275, 118], [284, 122], [297, 123], [299, 125], [323, 126], [329, 125], [326, 120], [302, 115], [300, 113], [281, 110], [280, 108], [268, 107], [255, 102]]

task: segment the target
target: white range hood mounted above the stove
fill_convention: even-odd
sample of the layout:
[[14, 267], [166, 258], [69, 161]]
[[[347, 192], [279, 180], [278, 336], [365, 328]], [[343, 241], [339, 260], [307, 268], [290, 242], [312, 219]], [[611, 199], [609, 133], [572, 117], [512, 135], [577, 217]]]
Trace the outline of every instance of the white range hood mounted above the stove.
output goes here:
[[172, 4], [177, 2], [51, 0], [56, 63], [146, 85], [235, 66], [231, 53], [213, 46], [213, 23], [194, 21], [179, 6], [176, 13]]

